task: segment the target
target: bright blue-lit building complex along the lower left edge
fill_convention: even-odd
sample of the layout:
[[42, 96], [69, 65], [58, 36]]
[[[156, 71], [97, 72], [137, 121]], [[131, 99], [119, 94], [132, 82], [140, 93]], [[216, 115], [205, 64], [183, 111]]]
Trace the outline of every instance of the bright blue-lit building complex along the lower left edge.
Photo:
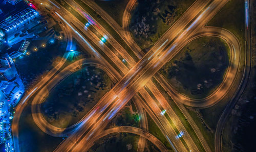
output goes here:
[[11, 121], [15, 107], [25, 92], [25, 87], [16, 71], [12, 58], [5, 54], [0, 57], [0, 144], [5, 151], [14, 151], [11, 136]]

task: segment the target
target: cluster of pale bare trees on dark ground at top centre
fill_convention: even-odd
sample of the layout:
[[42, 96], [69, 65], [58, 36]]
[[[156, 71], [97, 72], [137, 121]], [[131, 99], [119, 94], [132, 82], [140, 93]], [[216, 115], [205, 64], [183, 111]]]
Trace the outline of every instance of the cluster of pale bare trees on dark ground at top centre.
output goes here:
[[149, 38], [152, 34], [157, 32], [158, 19], [171, 25], [176, 17], [176, 6], [163, 5], [167, 0], [147, 0], [138, 1], [139, 5], [133, 15], [134, 20], [132, 20], [132, 31], [135, 36], [142, 37], [143, 39]]

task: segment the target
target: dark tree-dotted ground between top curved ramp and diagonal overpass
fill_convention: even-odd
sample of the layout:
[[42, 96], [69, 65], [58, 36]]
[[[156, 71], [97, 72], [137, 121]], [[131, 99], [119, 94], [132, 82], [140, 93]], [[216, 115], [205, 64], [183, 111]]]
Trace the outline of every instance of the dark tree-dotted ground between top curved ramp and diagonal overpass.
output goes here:
[[139, 0], [131, 12], [130, 31], [142, 48], [151, 47], [193, 4], [192, 0]]

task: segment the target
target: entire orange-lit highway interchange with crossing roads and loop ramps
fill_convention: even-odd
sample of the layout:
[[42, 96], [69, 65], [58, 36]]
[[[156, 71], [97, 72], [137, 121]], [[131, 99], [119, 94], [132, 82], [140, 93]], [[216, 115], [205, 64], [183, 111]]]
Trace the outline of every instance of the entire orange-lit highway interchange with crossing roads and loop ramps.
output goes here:
[[[52, 5], [54, 3], [56, 6]], [[152, 137], [150, 133], [147, 132], [146, 126], [146, 116], [144, 115], [143, 108], [145, 111], [155, 120], [159, 129], [165, 135], [166, 139], [170, 142], [175, 151], [199, 151], [197, 145], [194, 143], [191, 135], [186, 131], [183, 126], [180, 118], [175, 114], [172, 107], [169, 106], [167, 100], [160, 93], [158, 88], [152, 82], [152, 77], [154, 77], [161, 86], [167, 91], [167, 93], [174, 99], [178, 107], [181, 109], [185, 117], [188, 119], [188, 122], [196, 132], [197, 137], [202, 143], [205, 151], [211, 151], [204, 137], [200, 133], [197, 125], [193, 119], [187, 114], [184, 110], [184, 105], [191, 107], [210, 107], [217, 104], [230, 90], [232, 87], [232, 82], [236, 80], [238, 69], [241, 61], [241, 47], [237, 38], [230, 33], [229, 31], [221, 28], [215, 27], [204, 27], [204, 25], [213, 17], [228, 1], [203, 1], [197, 0], [195, 3], [170, 27], [169, 30], [155, 43], [155, 45], [148, 51], [147, 54], [143, 54], [135, 41], [131, 38], [129, 32], [129, 18], [130, 11], [133, 8], [133, 5], [136, 1], [131, 0], [127, 5], [124, 15], [123, 15], [123, 27], [121, 28], [107, 13], [97, 5], [93, 4], [92, 1], [84, 1], [89, 6], [93, 8], [97, 13], [99, 13], [112, 27], [113, 29], [123, 37], [126, 44], [133, 50], [134, 54], [138, 58], [138, 62], [130, 56], [129, 53], [111, 36], [108, 31], [106, 31], [97, 21], [95, 21], [100, 29], [94, 28], [97, 30], [97, 34], [105, 35], [108, 37], [108, 42], [111, 43], [113, 48], [109, 48], [106, 45], [99, 43], [99, 38], [94, 31], [88, 29], [84, 30], [84, 24], [77, 20], [71, 13], [69, 13], [65, 8], [57, 5], [57, 2], [54, 1], [44, 1], [45, 5], [48, 4], [49, 9], [51, 9], [56, 17], [59, 17], [58, 20], [68, 23], [65, 24], [65, 31], [67, 31], [68, 37], [68, 46], [67, 50], [70, 50], [70, 45], [72, 44], [72, 36], [77, 37], [81, 44], [86, 45], [91, 53], [96, 57], [96, 59], [82, 59], [76, 61], [66, 68], [63, 68], [61, 71], [59, 69], [65, 63], [69, 52], [65, 53], [61, 62], [51, 70], [44, 79], [31, 91], [28, 92], [27, 97], [25, 97], [18, 105], [15, 111], [14, 120], [13, 120], [13, 136], [14, 136], [14, 145], [15, 149], [19, 150], [18, 146], [18, 121], [22, 110], [27, 105], [27, 100], [33, 96], [32, 101], [32, 116], [37, 124], [37, 126], [44, 131], [45, 133], [52, 136], [64, 136], [68, 137], [55, 149], [56, 151], [83, 151], [84, 149], [88, 150], [93, 142], [103, 137], [104, 127], [110, 122], [110, 120], [125, 106], [129, 100], [134, 97], [136, 104], [138, 105], [137, 109], [141, 109], [140, 117], [141, 128], [132, 129], [127, 127], [126, 130], [116, 129], [116, 132], [130, 132], [134, 134], [141, 135], [147, 134], [148, 136], [141, 136], [139, 146], [139, 151], [143, 151], [145, 145], [145, 138], [152, 141], [157, 147], [162, 145], [156, 138]], [[81, 6], [76, 2], [67, 0], [67, 4], [73, 7], [74, 10], [82, 10], [86, 12]], [[77, 11], [79, 12], [79, 11]], [[82, 15], [82, 13], [80, 12]], [[104, 15], [105, 14], [105, 15]], [[75, 27], [74, 27], [75, 26]], [[72, 28], [73, 29], [72, 29]], [[71, 30], [72, 29], [72, 30]], [[75, 30], [77, 29], [77, 31]], [[78, 32], [79, 30], [79, 32]], [[82, 33], [80, 33], [80, 31]], [[80, 33], [79, 35], [77, 33]], [[98, 50], [92, 45], [88, 45], [89, 40], [83, 37], [83, 34], [91, 39], [91, 41], [96, 44], [119, 68], [120, 71], [117, 71], [112, 64], [108, 62], [103, 56], [100, 55]], [[230, 63], [225, 74], [224, 81], [216, 89], [215, 92], [210, 94], [204, 99], [191, 99], [188, 98], [175, 90], [175, 88], [170, 85], [164, 77], [161, 75], [159, 69], [170, 59], [172, 59], [179, 50], [183, 48], [188, 42], [202, 36], [216, 36], [223, 39], [230, 48]], [[83, 38], [81, 38], [83, 37]], [[87, 43], [86, 43], [87, 42]], [[113, 51], [114, 49], [115, 51]], [[123, 62], [118, 58], [120, 55], [129, 66], [125, 66]], [[90, 64], [102, 68], [113, 82], [116, 84], [115, 87], [106, 93], [103, 98], [95, 105], [95, 107], [77, 122], [75, 125], [71, 126], [69, 129], [60, 129], [49, 124], [45, 118], [40, 113], [40, 102], [44, 96], [48, 95], [51, 89], [58, 84], [59, 81], [68, 77], [71, 73], [78, 70], [82, 65]], [[105, 66], [104, 66], [105, 65]], [[231, 66], [232, 65], [232, 66]], [[108, 68], [106, 68], [108, 67]], [[148, 93], [147, 89], [151, 90], [154, 93], [157, 101], [152, 98]], [[140, 93], [139, 96], [137, 93]], [[142, 99], [144, 98], [144, 100]], [[182, 103], [182, 104], [181, 104]], [[143, 107], [143, 108], [141, 108]], [[161, 111], [167, 109], [166, 115], [161, 115]], [[184, 133], [182, 140], [176, 139], [177, 133], [175, 132], [173, 126], [170, 124], [169, 120], [166, 118], [171, 118], [172, 122], [179, 131]], [[146, 119], [146, 118], [145, 118]], [[100, 126], [100, 127], [99, 127]], [[114, 130], [114, 129], [113, 129]], [[135, 131], [136, 130], [136, 131]], [[115, 131], [113, 131], [115, 132]], [[112, 132], [111, 132], [112, 133]], [[186, 143], [186, 146], [184, 145]], [[218, 150], [219, 151], [219, 150]]]

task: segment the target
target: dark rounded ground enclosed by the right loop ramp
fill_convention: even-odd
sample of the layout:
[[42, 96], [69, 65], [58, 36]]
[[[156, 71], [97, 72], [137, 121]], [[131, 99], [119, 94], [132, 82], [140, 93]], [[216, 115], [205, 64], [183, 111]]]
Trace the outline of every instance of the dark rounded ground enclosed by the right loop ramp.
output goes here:
[[216, 37], [189, 42], [161, 69], [175, 89], [191, 98], [203, 98], [223, 81], [228, 67], [229, 48]]

